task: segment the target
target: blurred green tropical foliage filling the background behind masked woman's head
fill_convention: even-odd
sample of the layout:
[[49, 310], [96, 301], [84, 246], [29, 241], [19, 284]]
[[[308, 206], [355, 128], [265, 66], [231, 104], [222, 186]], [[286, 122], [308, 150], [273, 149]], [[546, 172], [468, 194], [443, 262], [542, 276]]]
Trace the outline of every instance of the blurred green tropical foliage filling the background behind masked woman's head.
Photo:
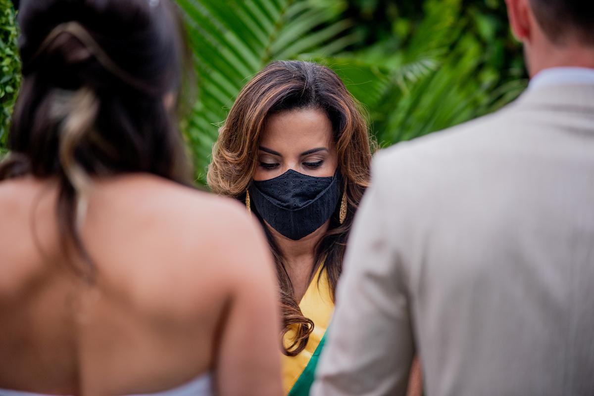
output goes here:
[[[239, 90], [274, 59], [314, 60], [333, 68], [368, 109], [383, 146], [481, 116], [525, 87], [519, 46], [502, 17], [503, 1], [178, 3], [198, 72], [199, 100], [184, 129], [200, 181]], [[377, 21], [376, 14], [384, 20]]]

